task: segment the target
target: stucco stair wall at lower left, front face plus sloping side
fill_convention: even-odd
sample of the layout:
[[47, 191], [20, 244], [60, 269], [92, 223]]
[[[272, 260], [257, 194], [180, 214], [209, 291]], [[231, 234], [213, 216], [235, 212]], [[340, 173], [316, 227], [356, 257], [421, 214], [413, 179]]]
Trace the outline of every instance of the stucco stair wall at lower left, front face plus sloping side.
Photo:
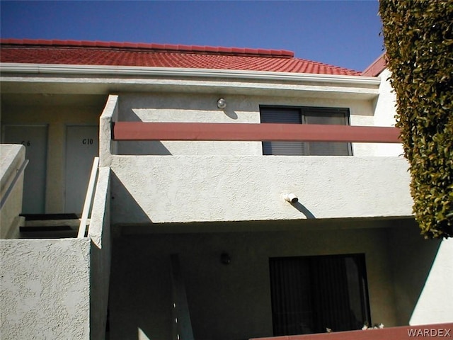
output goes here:
[[0, 243], [1, 339], [105, 339], [110, 169], [101, 168], [88, 237]]

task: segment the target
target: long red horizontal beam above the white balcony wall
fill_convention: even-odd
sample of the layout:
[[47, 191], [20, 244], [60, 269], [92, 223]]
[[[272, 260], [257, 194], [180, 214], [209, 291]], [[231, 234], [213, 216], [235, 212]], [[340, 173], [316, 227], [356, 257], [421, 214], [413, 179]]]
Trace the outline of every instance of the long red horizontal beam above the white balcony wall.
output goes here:
[[114, 140], [400, 143], [397, 128], [315, 124], [117, 122]]

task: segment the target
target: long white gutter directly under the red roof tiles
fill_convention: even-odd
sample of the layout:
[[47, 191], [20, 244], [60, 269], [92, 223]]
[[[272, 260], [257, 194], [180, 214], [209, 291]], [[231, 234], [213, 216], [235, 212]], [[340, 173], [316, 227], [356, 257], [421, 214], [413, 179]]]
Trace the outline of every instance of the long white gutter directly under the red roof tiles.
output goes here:
[[263, 72], [234, 69], [188, 69], [174, 67], [132, 67], [71, 64], [21, 64], [1, 63], [0, 72], [26, 74], [79, 74], [79, 75], [116, 75], [142, 77], [207, 77], [226, 79], [252, 79], [267, 81], [301, 81], [343, 84], [345, 86], [379, 86], [377, 77], [345, 76], [337, 74], [309, 74], [291, 72]]

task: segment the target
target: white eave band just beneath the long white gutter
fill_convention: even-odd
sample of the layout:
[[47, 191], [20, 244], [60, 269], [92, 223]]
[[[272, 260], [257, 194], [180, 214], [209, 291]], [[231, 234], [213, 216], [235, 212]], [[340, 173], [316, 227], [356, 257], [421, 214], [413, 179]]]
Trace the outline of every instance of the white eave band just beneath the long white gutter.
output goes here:
[[[169, 91], [265, 96], [315, 96], [369, 100], [379, 89], [369, 86], [338, 86], [321, 83], [284, 83], [282, 81], [246, 81], [241, 79], [162, 79], [162, 77], [39, 77], [27, 74], [0, 77], [2, 93], [112, 94], [123, 91]], [[336, 85], [336, 86], [335, 86]]]

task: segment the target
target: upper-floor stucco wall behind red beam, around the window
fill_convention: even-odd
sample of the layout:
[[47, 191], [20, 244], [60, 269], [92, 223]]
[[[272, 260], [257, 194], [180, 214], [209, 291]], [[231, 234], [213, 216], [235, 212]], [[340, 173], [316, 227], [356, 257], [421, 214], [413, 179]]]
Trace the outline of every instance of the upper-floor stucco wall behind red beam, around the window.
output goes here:
[[[379, 103], [386, 103], [388, 89], [382, 85]], [[381, 90], [380, 90], [381, 91]], [[225, 98], [224, 110], [217, 108], [217, 100]], [[394, 111], [384, 105], [375, 108], [371, 99], [326, 96], [316, 97], [279, 97], [279, 96], [244, 96], [221, 94], [122, 94], [118, 99], [117, 119], [120, 121], [143, 122], [197, 122], [197, 123], [260, 123], [260, 106], [315, 106], [348, 108], [351, 125], [391, 126]], [[376, 121], [375, 115], [384, 117]], [[389, 119], [387, 119], [389, 117]], [[382, 124], [382, 125], [381, 125]], [[205, 155], [259, 155], [262, 154], [261, 142], [119, 142], [119, 154], [205, 154]], [[399, 150], [399, 149], [398, 149]], [[355, 156], [398, 156], [394, 145], [355, 143]]]

